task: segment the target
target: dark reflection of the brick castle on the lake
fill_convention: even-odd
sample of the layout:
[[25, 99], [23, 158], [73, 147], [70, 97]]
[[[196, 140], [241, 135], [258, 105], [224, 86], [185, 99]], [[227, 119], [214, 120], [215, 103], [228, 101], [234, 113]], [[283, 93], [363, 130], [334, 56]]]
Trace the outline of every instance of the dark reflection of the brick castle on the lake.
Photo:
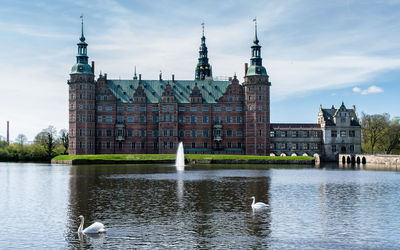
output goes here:
[[[255, 247], [267, 247], [269, 211], [253, 213], [249, 197], [269, 203], [270, 178], [268, 170], [254, 171], [72, 166], [66, 241], [71, 247], [96, 242], [103, 247], [180, 248], [190, 242], [192, 247], [215, 248], [248, 247], [243, 237], [251, 237], [259, 238]], [[105, 224], [107, 234], [100, 243], [75, 233], [81, 214], [89, 224]]]

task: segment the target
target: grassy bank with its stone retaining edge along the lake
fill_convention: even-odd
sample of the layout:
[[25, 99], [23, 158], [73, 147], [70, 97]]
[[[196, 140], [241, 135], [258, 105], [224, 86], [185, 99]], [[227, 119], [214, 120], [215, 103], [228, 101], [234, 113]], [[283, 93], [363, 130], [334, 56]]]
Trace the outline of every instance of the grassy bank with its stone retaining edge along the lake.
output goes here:
[[[60, 161], [85, 161], [86, 163], [93, 162], [132, 162], [143, 163], [149, 162], [173, 162], [175, 154], [109, 154], [109, 155], [59, 155], [53, 158], [52, 162]], [[273, 161], [273, 162], [298, 162], [314, 160], [308, 156], [258, 156], [258, 155], [201, 155], [201, 154], [185, 154], [187, 162], [192, 161]]]

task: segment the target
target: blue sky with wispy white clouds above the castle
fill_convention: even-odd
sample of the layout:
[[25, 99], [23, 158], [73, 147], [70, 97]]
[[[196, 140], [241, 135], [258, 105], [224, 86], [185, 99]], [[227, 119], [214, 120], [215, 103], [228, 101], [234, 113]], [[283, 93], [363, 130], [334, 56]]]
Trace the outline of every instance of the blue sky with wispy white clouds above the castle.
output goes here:
[[0, 3], [0, 135], [68, 128], [81, 14], [96, 75], [193, 79], [205, 22], [214, 76], [243, 79], [254, 37], [271, 122], [316, 122], [319, 105], [400, 116], [400, 1], [22, 1]]

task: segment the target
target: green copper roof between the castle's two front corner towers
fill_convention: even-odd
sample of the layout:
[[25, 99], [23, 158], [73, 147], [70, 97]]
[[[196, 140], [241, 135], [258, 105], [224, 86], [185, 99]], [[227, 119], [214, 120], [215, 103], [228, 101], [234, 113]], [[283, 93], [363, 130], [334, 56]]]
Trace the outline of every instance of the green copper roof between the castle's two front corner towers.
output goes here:
[[[168, 81], [142, 80], [141, 85], [147, 97], [147, 103], [159, 103]], [[225, 93], [229, 81], [169, 81], [178, 103], [190, 103], [190, 94], [197, 83], [203, 103], [217, 103]], [[122, 103], [133, 103], [133, 95], [139, 86], [139, 80], [107, 80], [112, 94]]]

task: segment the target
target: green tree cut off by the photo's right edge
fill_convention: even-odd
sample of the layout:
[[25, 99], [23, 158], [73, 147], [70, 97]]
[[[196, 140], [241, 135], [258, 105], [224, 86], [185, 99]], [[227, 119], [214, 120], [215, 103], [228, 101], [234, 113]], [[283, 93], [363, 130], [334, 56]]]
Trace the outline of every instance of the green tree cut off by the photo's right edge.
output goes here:
[[391, 154], [399, 146], [400, 140], [400, 118], [393, 119], [389, 122], [385, 134], [379, 143], [379, 149], [386, 154]]

